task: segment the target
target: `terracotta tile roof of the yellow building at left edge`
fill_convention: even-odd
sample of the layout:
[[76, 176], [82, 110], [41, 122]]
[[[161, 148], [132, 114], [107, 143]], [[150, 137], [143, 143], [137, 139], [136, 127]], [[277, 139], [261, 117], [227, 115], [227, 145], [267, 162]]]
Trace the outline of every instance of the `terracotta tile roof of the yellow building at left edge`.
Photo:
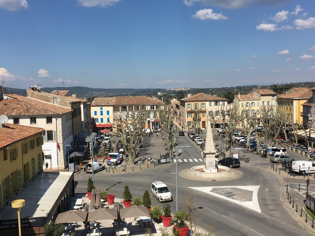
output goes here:
[[0, 126], [0, 149], [43, 131], [43, 128], [22, 125], [5, 124], [3, 127]]

